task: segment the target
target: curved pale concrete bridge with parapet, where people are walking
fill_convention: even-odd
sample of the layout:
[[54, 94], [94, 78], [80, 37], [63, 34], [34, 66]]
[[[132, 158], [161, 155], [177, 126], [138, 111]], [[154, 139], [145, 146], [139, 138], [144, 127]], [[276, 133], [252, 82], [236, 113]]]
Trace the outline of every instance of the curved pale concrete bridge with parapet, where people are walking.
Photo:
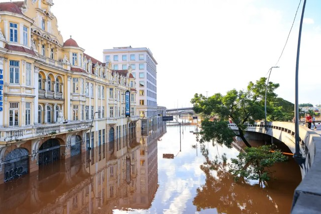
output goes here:
[[[230, 124], [231, 129], [238, 130]], [[262, 133], [285, 143], [295, 153], [295, 127], [291, 122], [263, 122], [248, 125], [247, 132]], [[321, 131], [299, 126], [300, 150], [306, 158], [301, 168], [302, 181], [293, 197], [292, 214], [317, 214], [321, 212]]]

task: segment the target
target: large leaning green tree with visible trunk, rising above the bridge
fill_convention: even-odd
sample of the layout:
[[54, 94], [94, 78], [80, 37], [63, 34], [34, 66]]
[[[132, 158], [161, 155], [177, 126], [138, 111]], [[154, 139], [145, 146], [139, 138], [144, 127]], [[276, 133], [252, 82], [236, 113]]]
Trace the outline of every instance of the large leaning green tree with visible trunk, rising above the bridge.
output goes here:
[[[208, 128], [206, 126], [209, 126], [208, 129], [217, 132], [216, 135], [218, 136], [230, 136], [230, 134], [225, 134], [225, 132], [229, 132], [228, 129], [217, 129], [218, 127], [221, 127], [217, 123], [222, 123], [220, 121], [228, 121], [231, 119], [239, 130], [239, 133], [236, 134], [236, 136], [239, 136], [246, 146], [251, 147], [246, 141], [243, 132], [247, 128], [247, 123], [254, 124], [256, 120], [265, 118], [265, 82], [266, 78], [261, 77], [255, 83], [249, 82], [246, 89], [240, 91], [233, 89], [228, 91], [225, 96], [220, 93], [210, 97], [205, 97], [202, 94], [195, 94], [191, 99], [193, 110], [196, 113], [202, 113], [207, 117], [216, 116], [218, 118], [218, 121], [213, 121], [211, 123], [210, 121], [207, 121], [204, 124], [202, 123], [202, 129], [206, 130]], [[274, 90], [278, 87], [279, 84], [277, 83], [269, 82], [268, 84], [266, 97], [268, 113], [273, 111], [272, 101], [277, 97]], [[206, 140], [211, 139], [206, 136], [206, 133], [208, 132], [203, 132], [202, 138]]]

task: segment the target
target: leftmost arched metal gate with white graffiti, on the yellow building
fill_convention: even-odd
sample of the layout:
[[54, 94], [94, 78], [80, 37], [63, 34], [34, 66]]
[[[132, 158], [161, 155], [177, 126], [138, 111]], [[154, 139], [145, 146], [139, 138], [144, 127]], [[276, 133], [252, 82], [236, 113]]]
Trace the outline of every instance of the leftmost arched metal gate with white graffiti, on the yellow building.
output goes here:
[[5, 156], [4, 160], [4, 182], [19, 178], [28, 173], [29, 158], [28, 150], [16, 148]]

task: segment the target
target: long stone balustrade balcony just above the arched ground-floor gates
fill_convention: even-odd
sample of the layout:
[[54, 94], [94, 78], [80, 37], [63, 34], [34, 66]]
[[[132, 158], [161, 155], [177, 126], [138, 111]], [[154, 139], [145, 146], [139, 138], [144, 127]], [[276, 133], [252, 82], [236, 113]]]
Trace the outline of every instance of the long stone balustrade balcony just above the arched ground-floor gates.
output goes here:
[[72, 131], [85, 130], [90, 128], [91, 122], [68, 122], [68, 124], [41, 124], [27, 127], [0, 128], [0, 144], [8, 142], [26, 141], [28, 139], [39, 138], [41, 136], [64, 134]]

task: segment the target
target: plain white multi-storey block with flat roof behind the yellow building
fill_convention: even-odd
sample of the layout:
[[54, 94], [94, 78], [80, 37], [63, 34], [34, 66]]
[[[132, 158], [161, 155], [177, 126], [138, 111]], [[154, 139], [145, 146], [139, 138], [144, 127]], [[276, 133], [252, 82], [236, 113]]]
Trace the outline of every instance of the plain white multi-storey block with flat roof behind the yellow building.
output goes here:
[[[110, 61], [113, 70], [128, 70], [136, 78], [136, 114], [142, 119], [141, 128], [150, 130], [157, 124], [157, 62], [148, 48], [115, 47], [103, 50], [104, 62]], [[147, 128], [148, 127], [148, 128]], [[146, 129], [147, 128], [147, 129]], [[143, 130], [142, 129], [142, 130]]]

